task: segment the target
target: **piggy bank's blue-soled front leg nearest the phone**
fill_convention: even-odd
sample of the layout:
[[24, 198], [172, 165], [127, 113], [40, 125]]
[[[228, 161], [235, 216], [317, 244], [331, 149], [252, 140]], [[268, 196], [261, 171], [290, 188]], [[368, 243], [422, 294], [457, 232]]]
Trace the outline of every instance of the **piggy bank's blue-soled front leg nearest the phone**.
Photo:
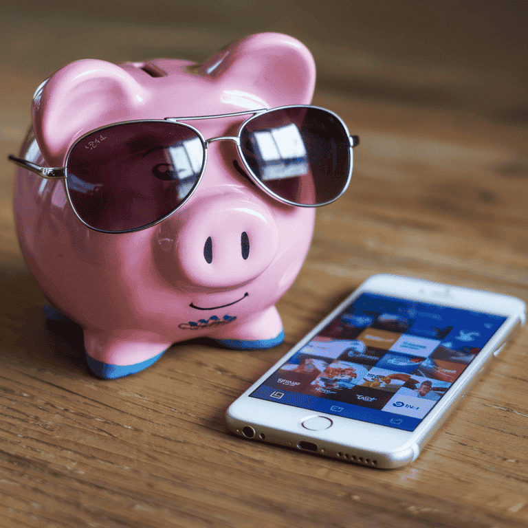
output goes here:
[[284, 341], [283, 322], [276, 307], [272, 306], [238, 325], [214, 333], [211, 338], [230, 349], [270, 349]]

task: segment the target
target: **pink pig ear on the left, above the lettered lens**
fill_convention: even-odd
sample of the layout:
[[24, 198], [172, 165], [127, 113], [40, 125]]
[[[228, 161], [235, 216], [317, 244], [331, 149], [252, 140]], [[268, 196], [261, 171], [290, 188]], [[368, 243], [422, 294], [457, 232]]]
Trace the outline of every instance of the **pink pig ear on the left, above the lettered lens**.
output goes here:
[[59, 69], [33, 98], [33, 128], [44, 158], [61, 166], [77, 137], [126, 120], [145, 96], [130, 74], [106, 61], [87, 59]]

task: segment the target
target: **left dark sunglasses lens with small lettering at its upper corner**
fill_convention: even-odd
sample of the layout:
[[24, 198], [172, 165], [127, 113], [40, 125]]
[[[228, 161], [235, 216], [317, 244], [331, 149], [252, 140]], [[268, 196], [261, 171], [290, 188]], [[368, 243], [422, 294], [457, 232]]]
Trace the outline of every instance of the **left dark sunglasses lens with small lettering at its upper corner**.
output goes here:
[[66, 163], [69, 197], [91, 228], [135, 230], [166, 217], [190, 195], [204, 159], [201, 138], [184, 125], [116, 124], [72, 148]]

